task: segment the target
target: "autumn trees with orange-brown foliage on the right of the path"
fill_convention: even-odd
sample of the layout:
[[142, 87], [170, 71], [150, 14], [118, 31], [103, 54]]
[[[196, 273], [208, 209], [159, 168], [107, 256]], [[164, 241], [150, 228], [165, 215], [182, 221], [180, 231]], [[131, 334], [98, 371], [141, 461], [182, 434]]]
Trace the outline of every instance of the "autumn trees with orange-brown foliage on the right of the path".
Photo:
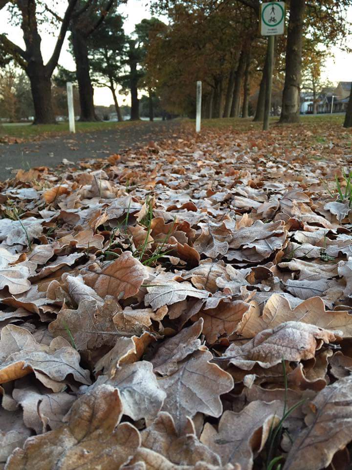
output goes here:
[[[303, 80], [306, 89], [308, 83], [314, 88], [316, 109], [324, 59], [351, 33], [350, 5], [351, 0], [286, 1], [286, 33], [275, 38], [274, 58], [274, 83], [283, 88], [282, 123], [299, 120]], [[263, 120], [268, 57], [267, 38], [259, 34], [260, 1], [159, 0], [153, 9], [170, 21], [154, 38], [146, 60], [147, 77], [164, 102], [194, 110], [197, 77], [203, 82], [205, 117], [247, 117], [251, 89], [258, 90], [254, 120]], [[167, 66], [160, 67], [165, 61]]]

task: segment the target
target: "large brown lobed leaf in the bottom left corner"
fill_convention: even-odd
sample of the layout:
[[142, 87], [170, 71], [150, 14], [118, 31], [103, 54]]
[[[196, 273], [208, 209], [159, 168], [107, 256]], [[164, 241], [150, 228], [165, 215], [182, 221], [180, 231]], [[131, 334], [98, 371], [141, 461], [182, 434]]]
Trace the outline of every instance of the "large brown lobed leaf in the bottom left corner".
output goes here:
[[6, 469], [119, 469], [140, 445], [132, 424], [118, 424], [121, 416], [118, 391], [101, 385], [76, 400], [66, 424], [27, 439], [23, 450], [18, 448], [10, 456]]

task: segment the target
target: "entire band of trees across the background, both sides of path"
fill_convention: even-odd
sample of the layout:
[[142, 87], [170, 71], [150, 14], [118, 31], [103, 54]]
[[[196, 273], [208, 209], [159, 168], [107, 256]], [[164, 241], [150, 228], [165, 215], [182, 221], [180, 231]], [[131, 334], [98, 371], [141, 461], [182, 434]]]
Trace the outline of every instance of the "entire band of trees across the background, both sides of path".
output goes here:
[[[155, 98], [172, 114], [194, 115], [195, 83], [203, 82], [203, 115], [247, 117], [249, 96], [256, 92], [254, 120], [263, 120], [268, 57], [259, 34], [259, 0], [151, 0], [156, 18], [125, 34], [116, 8], [127, 0], [68, 0], [65, 11], [42, 0], [0, 0], [14, 25], [21, 27], [25, 47], [0, 32], [0, 66], [14, 61], [30, 81], [35, 123], [55, 122], [52, 81], [75, 81], [80, 119], [97, 119], [93, 86], [111, 90], [122, 119], [116, 89], [131, 94], [131, 119], [139, 118], [138, 89], [148, 92], [150, 117]], [[286, 34], [275, 38], [274, 85], [283, 88], [282, 123], [297, 122], [302, 81], [316, 84], [332, 44], [350, 33], [346, 10], [352, 0], [288, 0]], [[57, 5], [56, 5], [57, 6]], [[56, 43], [44, 63], [40, 25], [57, 29]], [[76, 70], [57, 68], [66, 34]], [[55, 73], [54, 73], [55, 71]], [[316, 106], [314, 106], [315, 108]], [[352, 98], [345, 126], [352, 126]]]

